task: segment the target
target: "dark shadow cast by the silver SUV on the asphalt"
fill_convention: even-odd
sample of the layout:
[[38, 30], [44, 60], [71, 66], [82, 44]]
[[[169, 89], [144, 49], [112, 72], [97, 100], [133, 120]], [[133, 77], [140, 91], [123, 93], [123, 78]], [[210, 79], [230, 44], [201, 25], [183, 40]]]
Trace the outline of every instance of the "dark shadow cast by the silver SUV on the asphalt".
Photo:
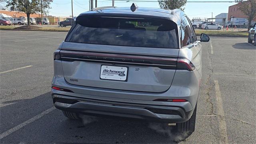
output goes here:
[[[33, 118], [51, 108], [50, 92], [31, 99], [3, 102], [0, 133]], [[81, 116], [83, 120], [69, 120], [60, 110], [6, 136], [6, 143], [177, 143], [166, 125], [140, 120]]]

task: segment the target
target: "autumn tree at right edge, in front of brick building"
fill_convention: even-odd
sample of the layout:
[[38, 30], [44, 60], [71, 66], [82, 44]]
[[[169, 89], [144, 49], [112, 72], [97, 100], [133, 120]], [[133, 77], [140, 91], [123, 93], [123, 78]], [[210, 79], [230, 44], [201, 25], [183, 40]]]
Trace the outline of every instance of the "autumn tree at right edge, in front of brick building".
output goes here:
[[236, 2], [238, 2], [238, 10], [248, 16], [248, 30], [250, 30], [252, 20], [256, 17], [256, 0], [236, 0]]

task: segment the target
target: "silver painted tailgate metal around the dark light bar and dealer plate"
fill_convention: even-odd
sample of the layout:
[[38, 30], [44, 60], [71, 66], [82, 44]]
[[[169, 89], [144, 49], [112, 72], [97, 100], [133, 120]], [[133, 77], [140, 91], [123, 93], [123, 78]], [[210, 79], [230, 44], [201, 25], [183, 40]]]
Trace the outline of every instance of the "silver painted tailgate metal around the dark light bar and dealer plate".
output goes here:
[[[138, 64], [138, 62], [136, 64], [132, 64], [132, 62], [119, 63], [117, 59], [120, 58], [127, 62], [128, 56], [140, 56], [140, 58], [167, 58], [166, 60], [172, 60], [170, 56], [176, 57], [178, 49], [159, 48], [156, 52], [156, 48], [129, 47], [128, 54], [127, 49], [125, 46], [64, 42], [60, 51], [64, 78], [70, 84], [119, 90], [163, 92], [170, 88], [175, 69], [168, 69], [168, 67], [158, 65]], [[95, 55], [92, 58], [92, 54], [95, 53], [98, 54], [98, 58], [95, 58]], [[149, 53], [150, 57], [148, 56]], [[101, 60], [100, 57], [104, 57], [107, 62], [95, 61]], [[113, 58], [115, 59], [114, 62], [108, 62], [112, 61]], [[133, 60], [135, 61], [136, 59]], [[127, 80], [100, 79], [102, 65], [127, 67]]]

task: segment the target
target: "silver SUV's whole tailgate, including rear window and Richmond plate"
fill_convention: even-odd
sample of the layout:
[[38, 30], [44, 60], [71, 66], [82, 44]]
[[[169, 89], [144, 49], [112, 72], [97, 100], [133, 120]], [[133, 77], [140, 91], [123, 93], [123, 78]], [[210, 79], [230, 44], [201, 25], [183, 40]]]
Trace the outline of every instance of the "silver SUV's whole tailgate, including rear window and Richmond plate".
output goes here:
[[170, 20], [87, 15], [76, 18], [60, 56], [70, 84], [164, 92], [172, 84], [178, 47], [178, 28]]

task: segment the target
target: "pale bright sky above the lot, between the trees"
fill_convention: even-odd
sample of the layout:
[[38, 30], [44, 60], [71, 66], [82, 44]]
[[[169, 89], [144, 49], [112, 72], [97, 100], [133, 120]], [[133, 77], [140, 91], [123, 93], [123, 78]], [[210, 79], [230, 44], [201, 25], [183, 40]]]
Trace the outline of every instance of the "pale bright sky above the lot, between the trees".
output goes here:
[[[136, 2], [139, 7], [154, 7], [159, 8], [157, 0], [150, 0], [156, 2]], [[185, 6], [185, 13], [192, 18], [211, 18], [220, 13], [228, 13], [228, 6], [236, 4], [235, 2], [225, 3], [192, 3], [192, 1], [234, 1], [234, 0], [187, 0]], [[94, 0], [95, 2], [95, 0]], [[133, 2], [120, 2], [116, 1], [115, 6], [127, 7], [131, 6]], [[94, 3], [95, 6], [95, 3]], [[98, 0], [98, 7], [112, 6], [112, 1]], [[71, 16], [71, 0], [53, 0], [49, 10], [49, 15], [52, 16]], [[89, 10], [89, 0], [73, 0], [73, 13], [78, 16], [80, 13]]]

